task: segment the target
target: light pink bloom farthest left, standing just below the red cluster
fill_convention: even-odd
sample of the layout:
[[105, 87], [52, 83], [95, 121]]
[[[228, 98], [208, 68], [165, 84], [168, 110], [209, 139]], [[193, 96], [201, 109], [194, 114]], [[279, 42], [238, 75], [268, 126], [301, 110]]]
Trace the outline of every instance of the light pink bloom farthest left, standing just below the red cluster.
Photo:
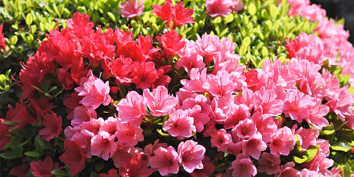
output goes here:
[[83, 87], [76, 87], [75, 91], [79, 92], [78, 96], [85, 96], [80, 101], [81, 104], [96, 109], [101, 104], [107, 106], [111, 102], [109, 89], [109, 81], [104, 83], [101, 79], [91, 75], [83, 84]]

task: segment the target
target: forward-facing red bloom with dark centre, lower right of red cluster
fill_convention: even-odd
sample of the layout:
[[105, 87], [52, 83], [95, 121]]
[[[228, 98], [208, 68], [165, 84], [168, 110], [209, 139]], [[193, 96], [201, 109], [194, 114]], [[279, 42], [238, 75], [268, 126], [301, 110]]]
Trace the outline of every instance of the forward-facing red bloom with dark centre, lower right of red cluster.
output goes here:
[[132, 72], [132, 82], [137, 85], [138, 89], [146, 89], [152, 86], [158, 78], [153, 62], [134, 63], [134, 71]]

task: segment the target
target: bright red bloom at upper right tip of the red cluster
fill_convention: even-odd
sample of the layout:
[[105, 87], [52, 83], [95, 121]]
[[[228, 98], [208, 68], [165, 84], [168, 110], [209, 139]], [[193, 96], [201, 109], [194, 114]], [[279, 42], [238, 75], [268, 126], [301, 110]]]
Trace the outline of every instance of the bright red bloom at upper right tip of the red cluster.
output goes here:
[[156, 38], [169, 56], [176, 55], [176, 52], [186, 45], [185, 41], [181, 41], [182, 35], [178, 35], [175, 31], [167, 31]]

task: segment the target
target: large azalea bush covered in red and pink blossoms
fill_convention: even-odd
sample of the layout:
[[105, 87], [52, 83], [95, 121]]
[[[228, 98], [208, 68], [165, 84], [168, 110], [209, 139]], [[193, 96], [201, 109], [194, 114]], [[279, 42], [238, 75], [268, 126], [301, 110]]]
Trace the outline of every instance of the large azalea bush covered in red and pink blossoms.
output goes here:
[[323, 9], [147, 5], [39, 41], [0, 119], [4, 176], [352, 175], [354, 48]]

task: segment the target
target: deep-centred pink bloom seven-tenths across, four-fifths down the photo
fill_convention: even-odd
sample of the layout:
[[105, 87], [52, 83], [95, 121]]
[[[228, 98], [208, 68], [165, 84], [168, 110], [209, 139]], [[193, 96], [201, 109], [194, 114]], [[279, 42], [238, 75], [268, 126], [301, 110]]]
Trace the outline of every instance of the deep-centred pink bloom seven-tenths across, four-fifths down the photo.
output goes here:
[[262, 141], [262, 135], [257, 132], [250, 139], [242, 140], [242, 154], [250, 155], [254, 159], [259, 159], [260, 152], [265, 151], [267, 145]]

